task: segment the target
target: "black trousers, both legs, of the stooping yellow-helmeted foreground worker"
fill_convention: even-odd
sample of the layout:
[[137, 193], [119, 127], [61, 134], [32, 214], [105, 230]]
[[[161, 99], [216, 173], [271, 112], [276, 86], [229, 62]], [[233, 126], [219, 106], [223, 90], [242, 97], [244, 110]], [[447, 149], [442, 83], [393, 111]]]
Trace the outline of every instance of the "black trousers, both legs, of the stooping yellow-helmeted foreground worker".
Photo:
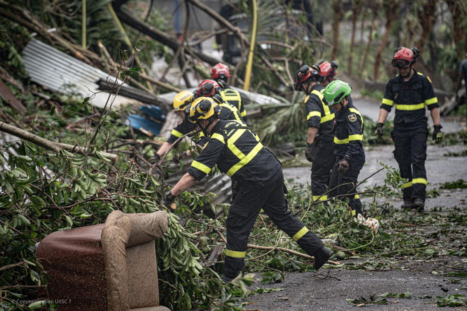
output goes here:
[[259, 189], [246, 184], [241, 185], [226, 219], [227, 247], [224, 273], [227, 277], [235, 277], [239, 271], [245, 269], [248, 237], [261, 208], [279, 229], [291, 236], [310, 256], [324, 245], [294, 213], [287, 210], [284, 189], [282, 170]]

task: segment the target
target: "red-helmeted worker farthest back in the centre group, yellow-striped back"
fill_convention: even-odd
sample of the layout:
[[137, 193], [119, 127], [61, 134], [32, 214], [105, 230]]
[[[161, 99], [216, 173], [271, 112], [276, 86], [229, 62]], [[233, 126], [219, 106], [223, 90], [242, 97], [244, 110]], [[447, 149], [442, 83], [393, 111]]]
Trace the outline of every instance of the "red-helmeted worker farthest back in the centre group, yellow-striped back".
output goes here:
[[224, 99], [225, 102], [231, 104], [240, 111], [240, 116], [243, 120], [247, 121], [247, 111], [245, 110], [245, 100], [241, 96], [240, 92], [234, 90], [230, 86], [226, 85], [228, 79], [230, 78], [230, 69], [227, 65], [219, 62], [212, 67], [211, 78], [219, 83], [219, 80], [225, 82], [224, 89], [220, 91], [220, 96]]

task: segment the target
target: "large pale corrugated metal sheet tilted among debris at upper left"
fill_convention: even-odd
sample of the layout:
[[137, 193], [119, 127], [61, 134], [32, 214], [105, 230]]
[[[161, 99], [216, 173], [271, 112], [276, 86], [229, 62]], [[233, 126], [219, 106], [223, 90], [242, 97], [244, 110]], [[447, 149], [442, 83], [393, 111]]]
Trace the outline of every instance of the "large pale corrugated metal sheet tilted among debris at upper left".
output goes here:
[[[67, 55], [56, 48], [41, 41], [32, 39], [23, 50], [23, 61], [31, 80], [41, 84], [50, 90], [60, 91], [65, 94], [76, 94], [82, 97], [91, 97], [90, 103], [98, 108], [103, 108], [109, 97], [108, 92], [99, 91], [99, 79], [109, 79], [112, 83], [114, 77], [96, 69], [84, 62]], [[124, 90], [120, 90], [124, 91]], [[117, 95], [113, 102], [113, 108], [120, 105], [141, 104], [141, 102]], [[109, 106], [110, 103], [107, 105]]]

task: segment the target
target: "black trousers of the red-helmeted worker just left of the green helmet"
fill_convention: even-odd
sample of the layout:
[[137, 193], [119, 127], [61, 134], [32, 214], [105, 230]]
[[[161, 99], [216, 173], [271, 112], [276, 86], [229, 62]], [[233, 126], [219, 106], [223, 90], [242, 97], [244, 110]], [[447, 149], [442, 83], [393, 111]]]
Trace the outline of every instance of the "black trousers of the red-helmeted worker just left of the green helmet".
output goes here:
[[325, 194], [331, 179], [331, 171], [334, 166], [334, 142], [320, 141], [319, 145], [311, 153], [311, 196], [312, 200], [327, 200]]

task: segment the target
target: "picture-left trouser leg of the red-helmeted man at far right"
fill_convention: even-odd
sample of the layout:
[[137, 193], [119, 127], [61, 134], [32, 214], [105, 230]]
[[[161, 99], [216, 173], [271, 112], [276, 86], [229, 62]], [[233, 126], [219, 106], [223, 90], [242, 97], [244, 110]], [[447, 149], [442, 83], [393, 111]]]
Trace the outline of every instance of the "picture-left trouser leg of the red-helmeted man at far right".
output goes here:
[[410, 160], [410, 137], [403, 134], [391, 133], [394, 140], [394, 159], [399, 165], [399, 171], [402, 178], [407, 178], [409, 181], [402, 186], [404, 200], [412, 198], [412, 162]]

